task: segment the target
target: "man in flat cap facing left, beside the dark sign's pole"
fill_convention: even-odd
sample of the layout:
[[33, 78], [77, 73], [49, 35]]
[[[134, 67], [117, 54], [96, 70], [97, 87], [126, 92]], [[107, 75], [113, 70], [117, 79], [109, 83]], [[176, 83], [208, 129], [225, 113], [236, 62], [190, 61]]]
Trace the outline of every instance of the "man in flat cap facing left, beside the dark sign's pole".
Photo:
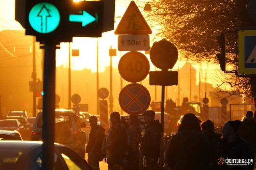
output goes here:
[[145, 133], [141, 141], [141, 151], [146, 159], [146, 170], [156, 170], [158, 158], [160, 157], [161, 132], [164, 127], [159, 120], [155, 120], [155, 111], [147, 110], [142, 113], [144, 116]]

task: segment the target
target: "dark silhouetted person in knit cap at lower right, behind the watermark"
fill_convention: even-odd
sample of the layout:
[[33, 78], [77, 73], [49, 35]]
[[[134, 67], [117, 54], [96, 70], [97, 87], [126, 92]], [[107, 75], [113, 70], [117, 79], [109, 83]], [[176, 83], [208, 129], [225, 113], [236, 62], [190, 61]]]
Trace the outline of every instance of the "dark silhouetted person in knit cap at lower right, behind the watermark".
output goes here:
[[[218, 157], [224, 159], [253, 159], [249, 143], [238, 134], [242, 121], [227, 121], [222, 129], [223, 138], [218, 142]], [[225, 161], [220, 165], [220, 170], [253, 170], [252, 165], [228, 165]]]

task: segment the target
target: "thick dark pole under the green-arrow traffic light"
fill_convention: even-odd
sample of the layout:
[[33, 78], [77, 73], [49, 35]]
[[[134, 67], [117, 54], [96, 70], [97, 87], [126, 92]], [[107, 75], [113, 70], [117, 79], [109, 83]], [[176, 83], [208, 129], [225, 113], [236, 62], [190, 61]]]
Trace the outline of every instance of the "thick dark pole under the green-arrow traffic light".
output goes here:
[[44, 42], [42, 170], [54, 167], [56, 49], [51, 40]]

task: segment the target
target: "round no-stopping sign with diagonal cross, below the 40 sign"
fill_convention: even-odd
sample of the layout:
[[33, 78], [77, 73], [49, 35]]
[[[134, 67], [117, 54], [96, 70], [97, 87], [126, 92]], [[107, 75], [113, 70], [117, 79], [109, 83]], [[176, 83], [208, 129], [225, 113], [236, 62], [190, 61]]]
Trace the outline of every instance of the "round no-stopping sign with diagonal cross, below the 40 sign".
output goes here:
[[132, 83], [126, 85], [119, 94], [121, 109], [128, 114], [140, 114], [150, 105], [150, 94], [146, 87]]

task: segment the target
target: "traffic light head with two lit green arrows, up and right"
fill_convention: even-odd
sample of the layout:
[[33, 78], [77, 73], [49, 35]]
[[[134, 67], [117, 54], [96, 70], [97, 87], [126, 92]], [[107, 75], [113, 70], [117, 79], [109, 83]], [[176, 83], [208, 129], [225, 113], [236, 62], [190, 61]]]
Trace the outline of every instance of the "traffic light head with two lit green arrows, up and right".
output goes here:
[[26, 0], [26, 35], [36, 41], [72, 42], [72, 37], [101, 37], [103, 2], [73, 0]]

